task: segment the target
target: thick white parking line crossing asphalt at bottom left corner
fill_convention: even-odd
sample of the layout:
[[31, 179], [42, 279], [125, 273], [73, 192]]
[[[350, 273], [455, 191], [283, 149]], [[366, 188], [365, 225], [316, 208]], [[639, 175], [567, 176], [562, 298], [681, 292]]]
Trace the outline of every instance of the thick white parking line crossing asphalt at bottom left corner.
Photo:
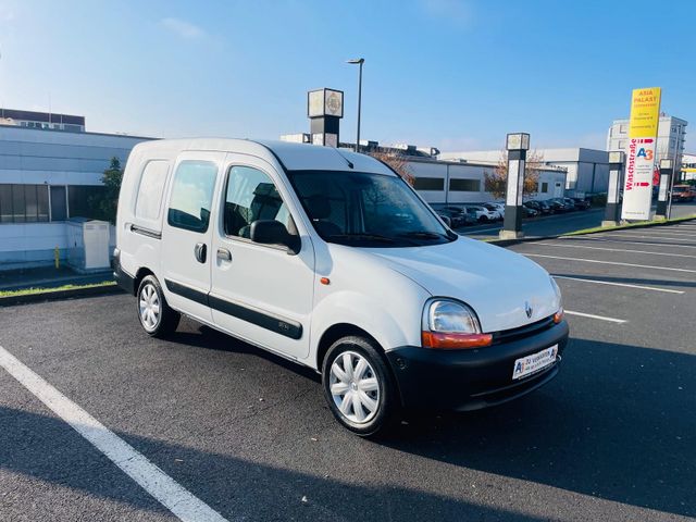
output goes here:
[[0, 346], [0, 366], [32, 391], [53, 413], [70, 424], [109, 460], [183, 521], [226, 522], [220, 513], [195, 497], [142, 453], [47, 383]]

